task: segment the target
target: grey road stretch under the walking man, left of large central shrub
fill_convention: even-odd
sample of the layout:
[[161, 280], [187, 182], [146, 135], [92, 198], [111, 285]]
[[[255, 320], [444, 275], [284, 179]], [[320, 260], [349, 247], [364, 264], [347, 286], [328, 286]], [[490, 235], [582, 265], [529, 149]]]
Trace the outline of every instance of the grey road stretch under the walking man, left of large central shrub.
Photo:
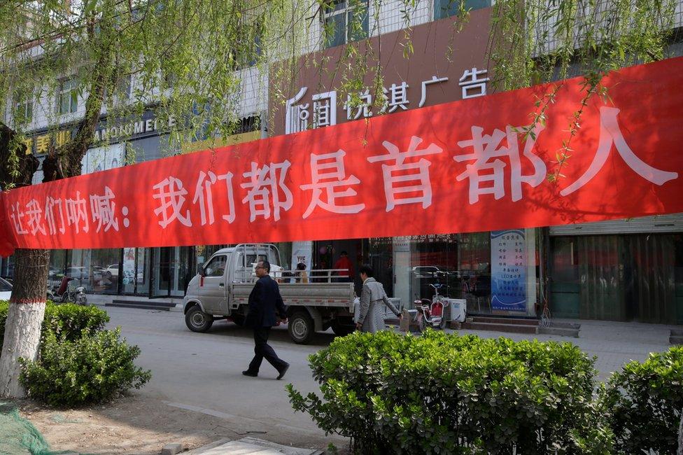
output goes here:
[[106, 311], [111, 328], [121, 326], [122, 336], [140, 347], [136, 364], [153, 372], [152, 381], [136, 393], [223, 417], [244, 430], [267, 432], [260, 436], [281, 444], [324, 448], [335, 442], [344, 447], [346, 440], [325, 437], [308, 414], [295, 413], [285, 391], [288, 383], [305, 393], [319, 391], [307, 357], [330, 344], [332, 333], [316, 334], [311, 344], [300, 346], [285, 328], [274, 328], [271, 345], [291, 365], [277, 381], [276, 370], [265, 360], [258, 378], [241, 374], [253, 357], [248, 329], [217, 321], [209, 332], [195, 333], [185, 327], [183, 313], [175, 311]]

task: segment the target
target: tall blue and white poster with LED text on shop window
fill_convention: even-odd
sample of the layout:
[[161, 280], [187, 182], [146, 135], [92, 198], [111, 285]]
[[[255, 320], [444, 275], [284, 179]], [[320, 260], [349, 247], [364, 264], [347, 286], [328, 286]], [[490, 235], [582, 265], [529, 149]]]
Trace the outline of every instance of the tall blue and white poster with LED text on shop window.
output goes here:
[[491, 309], [526, 312], [523, 230], [491, 231]]

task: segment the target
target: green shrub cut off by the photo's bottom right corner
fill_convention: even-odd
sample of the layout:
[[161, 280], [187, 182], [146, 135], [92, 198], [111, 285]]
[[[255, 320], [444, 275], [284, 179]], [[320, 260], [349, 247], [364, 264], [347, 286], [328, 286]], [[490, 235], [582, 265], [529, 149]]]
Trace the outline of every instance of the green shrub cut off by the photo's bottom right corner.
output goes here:
[[602, 393], [621, 453], [674, 454], [683, 408], [683, 346], [651, 353], [615, 372]]

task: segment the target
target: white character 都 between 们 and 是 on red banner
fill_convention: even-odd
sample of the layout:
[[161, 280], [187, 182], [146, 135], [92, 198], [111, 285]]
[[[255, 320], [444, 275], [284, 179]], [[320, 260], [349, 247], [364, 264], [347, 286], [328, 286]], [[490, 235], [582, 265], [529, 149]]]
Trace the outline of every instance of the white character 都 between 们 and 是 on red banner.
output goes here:
[[[251, 216], [249, 221], [253, 222], [257, 216], [270, 218], [270, 207], [272, 198], [273, 218], [275, 221], [280, 219], [280, 211], [287, 211], [292, 208], [292, 193], [285, 185], [287, 169], [291, 163], [285, 160], [281, 163], [270, 163], [259, 168], [258, 163], [251, 162], [251, 171], [242, 174], [247, 183], [242, 183], [241, 187], [248, 189], [242, 204], [249, 202]], [[281, 200], [281, 191], [284, 200]], [[260, 207], [260, 208], [259, 208]]]

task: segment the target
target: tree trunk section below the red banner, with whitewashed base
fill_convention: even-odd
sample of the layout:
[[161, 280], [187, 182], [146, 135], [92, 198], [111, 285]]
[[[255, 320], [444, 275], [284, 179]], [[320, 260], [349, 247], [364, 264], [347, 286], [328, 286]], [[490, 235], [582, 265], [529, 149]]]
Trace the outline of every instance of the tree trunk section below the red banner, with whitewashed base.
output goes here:
[[50, 251], [15, 251], [15, 286], [5, 323], [5, 339], [0, 356], [0, 396], [22, 398], [19, 384], [20, 357], [36, 360], [45, 316]]

